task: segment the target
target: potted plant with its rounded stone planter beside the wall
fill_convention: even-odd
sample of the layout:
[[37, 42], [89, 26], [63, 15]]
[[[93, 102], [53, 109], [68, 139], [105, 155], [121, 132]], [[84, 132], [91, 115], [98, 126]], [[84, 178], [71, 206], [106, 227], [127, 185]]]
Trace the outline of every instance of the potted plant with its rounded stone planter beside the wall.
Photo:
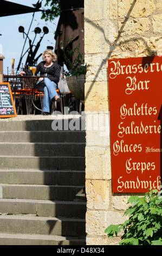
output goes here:
[[[71, 39], [72, 40], [72, 39]], [[69, 40], [69, 42], [71, 41]], [[71, 49], [69, 43], [64, 51], [64, 60], [68, 65], [69, 71], [66, 74], [66, 80], [70, 92], [79, 100], [85, 99], [85, 82], [87, 67], [85, 60], [82, 59], [82, 53], [80, 53], [80, 44], [74, 49]], [[72, 61], [72, 59], [74, 59]]]

